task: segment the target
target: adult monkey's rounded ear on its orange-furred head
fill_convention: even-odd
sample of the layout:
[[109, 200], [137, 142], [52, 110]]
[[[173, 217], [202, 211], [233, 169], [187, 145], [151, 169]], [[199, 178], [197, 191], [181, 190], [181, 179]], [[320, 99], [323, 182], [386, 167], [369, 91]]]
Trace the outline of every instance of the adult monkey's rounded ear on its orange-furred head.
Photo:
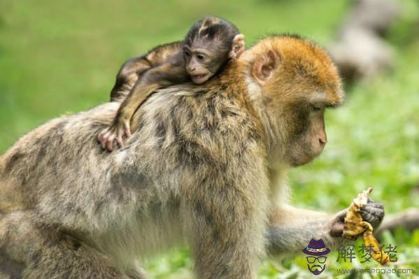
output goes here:
[[252, 75], [253, 78], [260, 84], [263, 85], [267, 80], [272, 77], [275, 68], [279, 63], [278, 55], [272, 50], [268, 50], [264, 54], [261, 54], [256, 58], [253, 63]]

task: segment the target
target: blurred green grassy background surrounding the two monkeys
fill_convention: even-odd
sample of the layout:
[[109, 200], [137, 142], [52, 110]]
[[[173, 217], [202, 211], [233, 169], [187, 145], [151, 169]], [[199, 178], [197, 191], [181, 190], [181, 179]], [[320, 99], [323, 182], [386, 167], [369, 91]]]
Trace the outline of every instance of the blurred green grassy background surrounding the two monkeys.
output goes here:
[[[334, 212], [372, 186], [387, 213], [419, 206], [419, 3], [400, 2], [404, 16], [388, 36], [395, 67], [347, 87], [344, 107], [328, 112], [323, 155], [291, 172], [293, 204]], [[348, 8], [348, 0], [0, 0], [0, 152], [48, 119], [106, 102], [126, 59], [182, 39], [204, 15], [234, 22], [248, 45], [283, 32], [328, 45]], [[419, 259], [419, 231], [384, 242], [397, 245], [399, 262]], [[357, 266], [330, 258], [324, 276]], [[146, 261], [152, 278], [189, 278], [191, 265], [188, 248]], [[417, 263], [406, 266], [419, 275]], [[309, 276], [305, 269], [301, 255], [271, 259], [260, 278]]]

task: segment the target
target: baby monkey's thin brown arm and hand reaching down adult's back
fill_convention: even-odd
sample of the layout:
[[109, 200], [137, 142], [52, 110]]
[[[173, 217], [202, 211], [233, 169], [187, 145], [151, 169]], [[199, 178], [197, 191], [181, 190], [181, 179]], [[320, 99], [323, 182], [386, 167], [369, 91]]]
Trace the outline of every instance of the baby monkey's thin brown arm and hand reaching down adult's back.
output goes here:
[[138, 107], [157, 89], [186, 82], [186, 77], [184, 64], [178, 59], [147, 70], [120, 105], [112, 125], [98, 135], [102, 148], [112, 151], [114, 140], [124, 146], [122, 137], [131, 137], [131, 119]]

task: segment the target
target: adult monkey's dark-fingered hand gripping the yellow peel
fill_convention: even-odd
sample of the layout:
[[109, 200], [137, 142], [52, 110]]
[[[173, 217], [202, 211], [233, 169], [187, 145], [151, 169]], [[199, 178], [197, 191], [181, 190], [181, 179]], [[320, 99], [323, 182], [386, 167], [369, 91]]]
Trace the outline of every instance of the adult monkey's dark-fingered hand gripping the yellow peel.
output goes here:
[[[339, 237], [342, 236], [344, 232], [344, 222], [346, 213], [348, 209], [345, 209], [335, 216], [335, 219], [332, 221], [332, 228], [330, 229], [330, 235]], [[376, 229], [384, 218], [384, 206], [381, 202], [375, 202], [372, 199], [368, 199], [367, 204], [362, 206], [360, 210], [362, 220], [370, 223], [374, 229]], [[360, 232], [361, 235], [364, 231]]]

